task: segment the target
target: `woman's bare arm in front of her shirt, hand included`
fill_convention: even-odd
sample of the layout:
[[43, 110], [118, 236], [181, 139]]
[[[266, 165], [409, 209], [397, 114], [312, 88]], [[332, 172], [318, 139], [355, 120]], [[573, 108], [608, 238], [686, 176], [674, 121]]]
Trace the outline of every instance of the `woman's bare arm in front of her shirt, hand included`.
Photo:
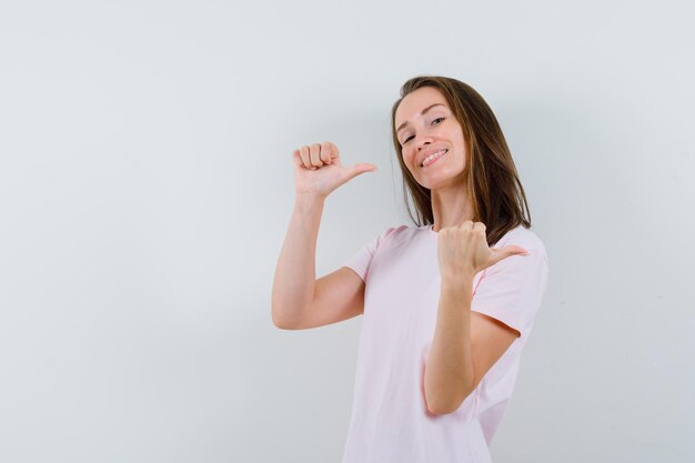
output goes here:
[[516, 254], [528, 252], [517, 245], [490, 249], [481, 222], [440, 230], [442, 289], [424, 373], [425, 402], [432, 413], [459, 409], [518, 335], [488, 316], [471, 313], [475, 274]]

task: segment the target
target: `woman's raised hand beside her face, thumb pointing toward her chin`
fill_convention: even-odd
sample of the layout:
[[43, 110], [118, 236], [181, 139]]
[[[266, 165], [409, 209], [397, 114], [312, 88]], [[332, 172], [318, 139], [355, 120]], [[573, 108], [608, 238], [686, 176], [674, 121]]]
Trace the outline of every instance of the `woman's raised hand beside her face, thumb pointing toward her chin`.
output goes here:
[[315, 194], [322, 199], [354, 177], [376, 170], [376, 165], [369, 162], [342, 165], [338, 147], [330, 141], [294, 150], [292, 161], [296, 194]]

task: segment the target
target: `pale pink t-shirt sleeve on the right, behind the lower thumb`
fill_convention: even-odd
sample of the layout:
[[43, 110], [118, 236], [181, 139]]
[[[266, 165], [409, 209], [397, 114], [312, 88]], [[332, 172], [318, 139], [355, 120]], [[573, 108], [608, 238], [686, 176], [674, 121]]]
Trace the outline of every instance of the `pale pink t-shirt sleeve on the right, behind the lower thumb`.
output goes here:
[[471, 302], [472, 311], [500, 320], [522, 336], [531, 331], [545, 294], [548, 271], [543, 245], [525, 249], [528, 255], [511, 255], [487, 268]]

